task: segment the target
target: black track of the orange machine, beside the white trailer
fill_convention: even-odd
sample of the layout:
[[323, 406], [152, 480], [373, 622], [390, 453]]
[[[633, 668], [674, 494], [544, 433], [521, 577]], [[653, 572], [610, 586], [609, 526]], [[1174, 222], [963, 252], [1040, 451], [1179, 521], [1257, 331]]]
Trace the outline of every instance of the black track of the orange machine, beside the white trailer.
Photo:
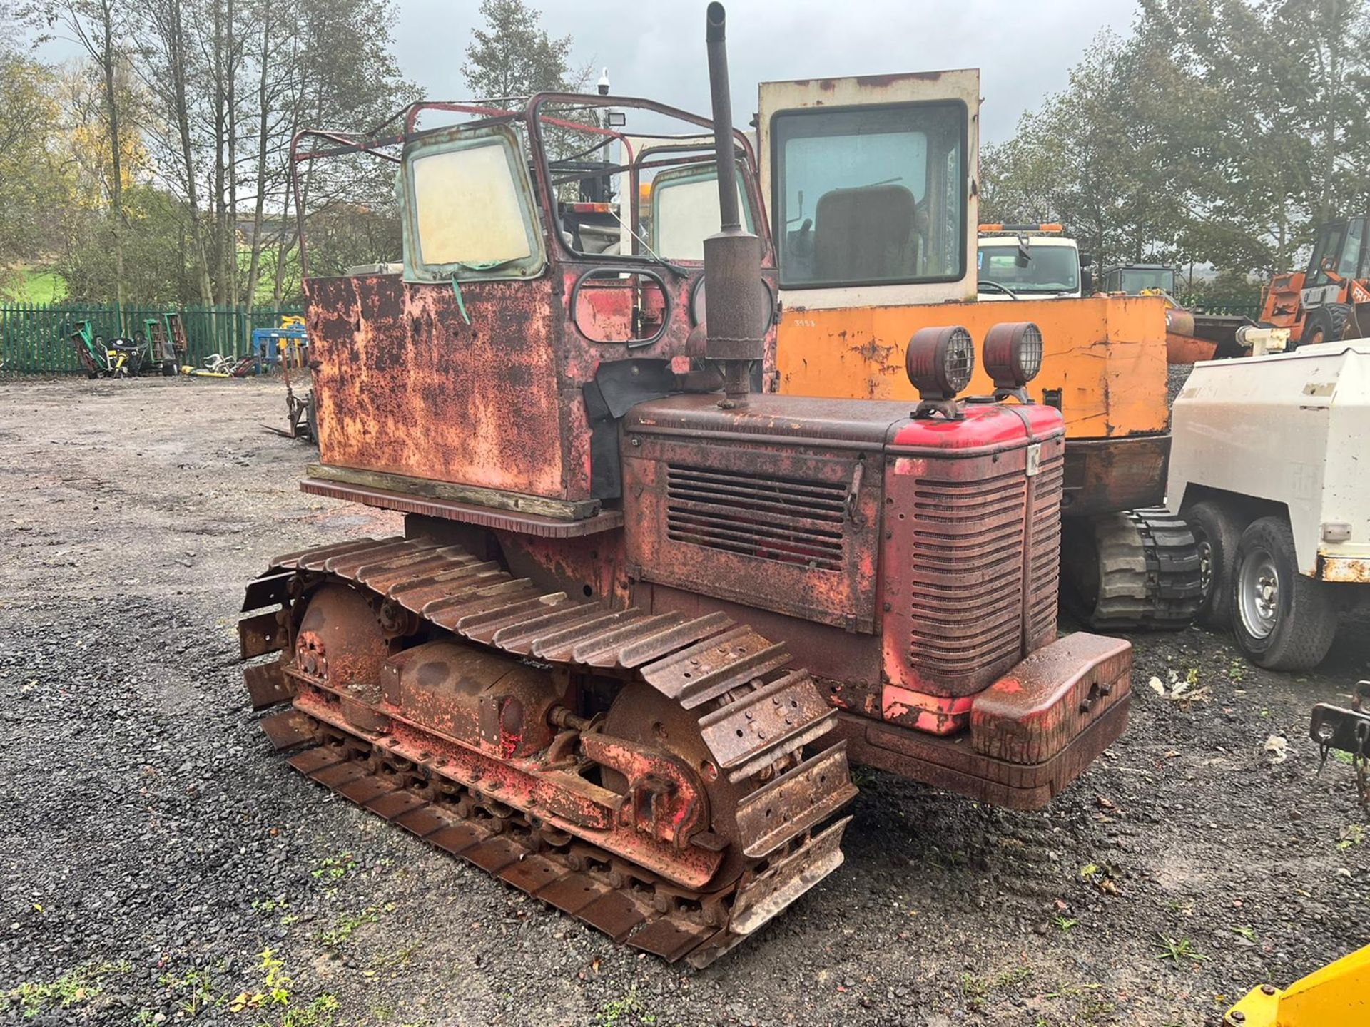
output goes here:
[[1193, 622], [1203, 600], [1199, 546], [1181, 518], [1148, 507], [1096, 518], [1085, 530], [1093, 535], [1095, 567], [1085, 575], [1089, 586], [1070, 583], [1075, 616], [1103, 631], [1178, 630]]

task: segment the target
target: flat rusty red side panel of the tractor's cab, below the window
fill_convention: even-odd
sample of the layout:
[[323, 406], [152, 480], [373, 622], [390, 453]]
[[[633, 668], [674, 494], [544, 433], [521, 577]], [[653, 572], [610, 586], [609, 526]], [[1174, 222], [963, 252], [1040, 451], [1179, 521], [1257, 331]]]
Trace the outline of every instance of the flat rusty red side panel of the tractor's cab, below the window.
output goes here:
[[312, 279], [322, 461], [588, 498], [589, 468], [563, 445], [553, 282], [467, 282], [467, 323], [449, 286]]

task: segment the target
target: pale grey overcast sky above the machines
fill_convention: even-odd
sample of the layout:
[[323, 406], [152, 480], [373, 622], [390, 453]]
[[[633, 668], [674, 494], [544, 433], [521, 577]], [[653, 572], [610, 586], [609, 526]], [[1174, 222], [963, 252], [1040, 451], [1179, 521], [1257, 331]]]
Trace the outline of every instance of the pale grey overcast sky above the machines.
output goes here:
[[[708, 114], [703, 0], [529, 0], [573, 64], [608, 66], [612, 92]], [[478, 0], [397, 0], [395, 51], [429, 99], [466, 97], [466, 40]], [[737, 125], [756, 84], [785, 78], [981, 68], [982, 138], [1066, 85], [1103, 27], [1126, 33], [1134, 0], [732, 0], [727, 56]], [[592, 78], [592, 84], [595, 81]]]

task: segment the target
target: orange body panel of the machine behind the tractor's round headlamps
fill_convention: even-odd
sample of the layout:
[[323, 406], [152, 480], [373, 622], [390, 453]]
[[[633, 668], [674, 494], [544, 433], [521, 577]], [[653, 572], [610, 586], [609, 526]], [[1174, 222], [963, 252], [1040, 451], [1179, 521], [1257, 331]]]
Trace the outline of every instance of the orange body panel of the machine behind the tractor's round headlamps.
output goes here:
[[[1043, 366], [1029, 392], [1043, 403], [1059, 390], [1069, 438], [1166, 430], [1166, 301], [1159, 296], [836, 309], [804, 309], [786, 299], [777, 333], [780, 392], [915, 400], [904, 349], [918, 329], [960, 325], [975, 340], [978, 357], [985, 331], [1006, 320], [1041, 329]], [[966, 394], [991, 392], [989, 377], [977, 366]]]

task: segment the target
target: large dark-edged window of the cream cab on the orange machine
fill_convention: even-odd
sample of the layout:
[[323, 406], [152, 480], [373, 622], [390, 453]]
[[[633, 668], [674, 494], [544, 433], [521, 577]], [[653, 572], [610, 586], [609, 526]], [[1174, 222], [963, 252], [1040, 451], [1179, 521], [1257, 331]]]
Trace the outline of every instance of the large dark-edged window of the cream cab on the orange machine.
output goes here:
[[771, 127], [782, 286], [964, 274], [964, 107], [784, 111]]

